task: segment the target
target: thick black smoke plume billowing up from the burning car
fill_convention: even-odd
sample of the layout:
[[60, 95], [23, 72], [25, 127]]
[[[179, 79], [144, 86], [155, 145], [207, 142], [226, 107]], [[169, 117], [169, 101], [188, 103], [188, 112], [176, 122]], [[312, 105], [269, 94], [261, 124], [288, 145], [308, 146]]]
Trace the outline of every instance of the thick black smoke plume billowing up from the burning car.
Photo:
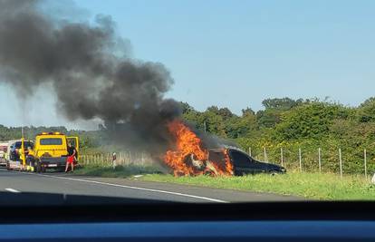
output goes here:
[[164, 98], [173, 79], [163, 64], [131, 58], [111, 17], [71, 22], [40, 5], [0, 0], [0, 82], [25, 96], [50, 83], [69, 120], [101, 119], [114, 141], [151, 152], [168, 145], [179, 108]]

